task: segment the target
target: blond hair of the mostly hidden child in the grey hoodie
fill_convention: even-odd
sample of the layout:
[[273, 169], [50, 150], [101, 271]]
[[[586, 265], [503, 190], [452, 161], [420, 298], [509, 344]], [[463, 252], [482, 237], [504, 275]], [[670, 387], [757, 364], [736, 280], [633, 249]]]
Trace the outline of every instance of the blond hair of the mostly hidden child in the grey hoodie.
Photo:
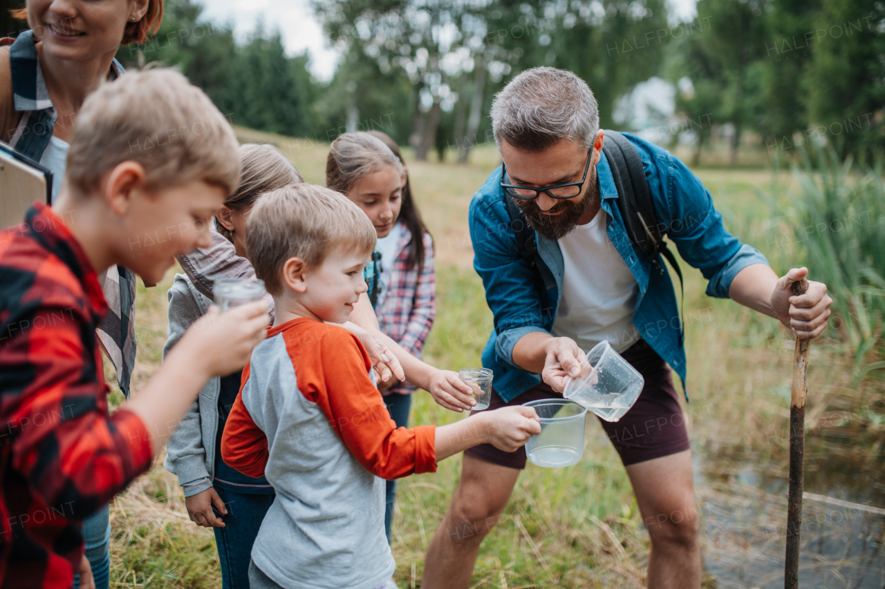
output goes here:
[[242, 176], [240, 186], [224, 202], [231, 210], [244, 210], [255, 204], [258, 196], [272, 190], [304, 182], [295, 164], [270, 143], [245, 143], [240, 146]]

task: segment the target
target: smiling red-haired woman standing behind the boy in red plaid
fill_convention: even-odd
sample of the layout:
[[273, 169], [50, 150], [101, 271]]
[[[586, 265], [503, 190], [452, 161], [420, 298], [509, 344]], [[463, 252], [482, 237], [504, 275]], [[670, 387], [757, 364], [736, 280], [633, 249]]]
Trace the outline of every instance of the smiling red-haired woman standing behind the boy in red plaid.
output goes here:
[[[27, 20], [30, 28], [0, 40], [0, 140], [50, 169], [54, 198], [83, 101], [124, 73], [114, 59], [121, 44], [143, 43], [157, 32], [163, 0], [27, 0], [12, 16]], [[102, 279], [110, 312], [98, 339], [128, 396], [135, 365], [135, 276], [117, 266]], [[74, 586], [107, 589], [108, 506], [83, 521], [82, 535], [86, 554]], [[23, 547], [19, 556], [27, 559], [25, 552]]]

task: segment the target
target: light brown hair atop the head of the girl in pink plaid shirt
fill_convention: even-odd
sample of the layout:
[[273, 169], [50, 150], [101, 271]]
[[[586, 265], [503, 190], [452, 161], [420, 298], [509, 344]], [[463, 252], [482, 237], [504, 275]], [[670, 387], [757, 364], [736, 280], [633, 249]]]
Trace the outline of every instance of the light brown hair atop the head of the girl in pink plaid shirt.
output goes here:
[[405, 173], [403, 163], [380, 139], [362, 131], [338, 135], [326, 160], [326, 186], [346, 195], [358, 180], [386, 168], [400, 176]]

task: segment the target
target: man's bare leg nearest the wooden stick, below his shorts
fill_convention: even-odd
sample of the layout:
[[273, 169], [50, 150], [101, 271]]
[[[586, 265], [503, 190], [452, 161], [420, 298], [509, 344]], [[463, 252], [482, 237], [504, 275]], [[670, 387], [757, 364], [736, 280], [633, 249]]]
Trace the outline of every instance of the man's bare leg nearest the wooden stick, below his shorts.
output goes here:
[[701, 548], [691, 450], [631, 464], [627, 475], [651, 536], [649, 588], [700, 587]]

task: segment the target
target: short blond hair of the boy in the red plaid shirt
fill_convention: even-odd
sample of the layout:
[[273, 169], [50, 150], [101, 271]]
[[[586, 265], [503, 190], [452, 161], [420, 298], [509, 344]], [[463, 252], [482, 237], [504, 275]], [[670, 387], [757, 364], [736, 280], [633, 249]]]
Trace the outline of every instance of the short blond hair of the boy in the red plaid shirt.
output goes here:
[[203, 90], [168, 69], [127, 73], [86, 99], [65, 182], [88, 193], [129, 160], [144, 167], [148, 189], [202, 180], [230, 194], [240, 184], [234, 129]]

